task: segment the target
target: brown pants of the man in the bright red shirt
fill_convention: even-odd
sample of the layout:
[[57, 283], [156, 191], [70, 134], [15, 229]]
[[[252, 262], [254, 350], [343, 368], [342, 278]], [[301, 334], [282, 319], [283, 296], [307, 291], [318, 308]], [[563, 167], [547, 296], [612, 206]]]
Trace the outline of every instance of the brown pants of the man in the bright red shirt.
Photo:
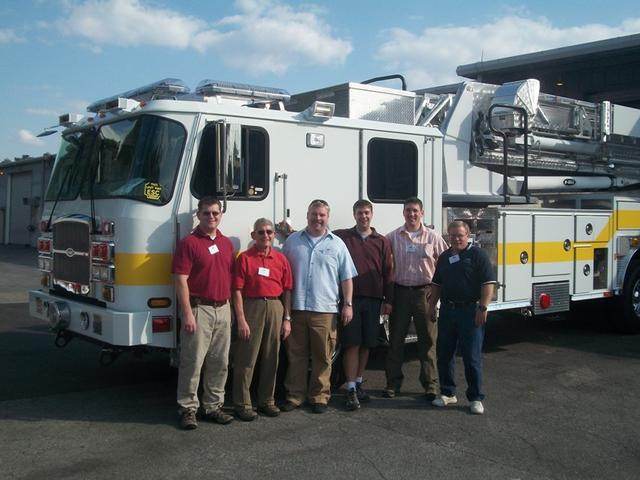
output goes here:
[[249, 340], [236, 344], [233, 404], [236, 409], [251, 408], [249, 387], [260, 354], [258, 405], [273, 405], [284, 307], [278, 299], [245, 298], [242, 303], [251, 333]]

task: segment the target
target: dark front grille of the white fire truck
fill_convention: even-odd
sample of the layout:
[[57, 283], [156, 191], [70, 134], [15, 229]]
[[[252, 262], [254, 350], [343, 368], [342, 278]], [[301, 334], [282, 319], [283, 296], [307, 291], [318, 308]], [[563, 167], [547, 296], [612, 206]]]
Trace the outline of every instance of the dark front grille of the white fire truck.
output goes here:
[[91, 237], [83, 220], [62, 220], [53, 225], [53, 277], [89, 285]]

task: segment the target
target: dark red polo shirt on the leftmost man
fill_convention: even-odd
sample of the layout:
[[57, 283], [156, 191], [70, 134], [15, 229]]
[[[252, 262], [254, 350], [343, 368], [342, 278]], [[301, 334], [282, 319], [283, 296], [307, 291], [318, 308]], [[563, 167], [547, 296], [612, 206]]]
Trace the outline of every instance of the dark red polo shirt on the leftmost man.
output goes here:
[[189, 276], [189, 295], [221, 302], [231, 298], [232, 268], [231, 241], [220, 230], [212, 239], [196, 227], [178, 243], [171, 271]]

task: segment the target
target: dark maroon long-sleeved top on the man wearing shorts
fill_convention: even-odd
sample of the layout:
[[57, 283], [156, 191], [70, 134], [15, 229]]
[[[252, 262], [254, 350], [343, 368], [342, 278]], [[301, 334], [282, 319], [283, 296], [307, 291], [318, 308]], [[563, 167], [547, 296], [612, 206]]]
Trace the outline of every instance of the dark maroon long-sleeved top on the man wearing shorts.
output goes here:
[[355, 297], [372, 297], [393, 302], [393, 258], [391, 244], [374, 228], [362, 238], [356, 227], [334, 230], [347, 246], [358, 276], [353, 279]]

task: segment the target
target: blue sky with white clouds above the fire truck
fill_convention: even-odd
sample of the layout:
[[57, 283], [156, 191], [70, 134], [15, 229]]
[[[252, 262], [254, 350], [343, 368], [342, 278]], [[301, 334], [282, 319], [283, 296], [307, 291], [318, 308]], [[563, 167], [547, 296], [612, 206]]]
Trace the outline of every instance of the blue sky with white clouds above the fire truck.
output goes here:
[[637, 0], [2, 0], [0, 161], [56, 153], [36, 135], [58, 115], [167, 77], [298, 93], [400, 73], [413, 90], [635, 33]]

